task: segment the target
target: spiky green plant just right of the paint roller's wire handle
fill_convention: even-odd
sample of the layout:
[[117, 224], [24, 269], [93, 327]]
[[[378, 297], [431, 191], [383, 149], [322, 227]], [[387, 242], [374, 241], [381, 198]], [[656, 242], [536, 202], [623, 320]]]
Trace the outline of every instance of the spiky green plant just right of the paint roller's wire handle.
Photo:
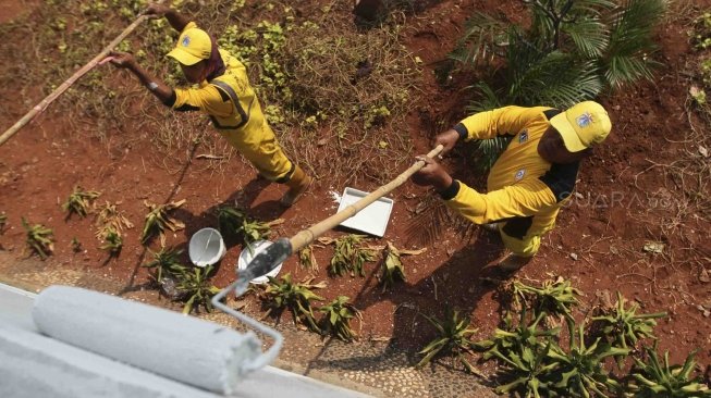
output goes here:
[[326, 283], [311, 285], [312, 278], [304, 283], [293, 283], [291, 274], [282, 276], [280, 281], [271, 276], [268, 277], [269, 284], [261, 296], [269, 307], [265, 316], [269, 315], [272, 310], [281, 313], [284, 309], [289, 309], [294, 318], [294, 324], [301, 322], [311, 331], [320, 332], [321, 329], [314, 319], [311, 301], [321, 301], [323, 298], [314, 294], [311, 289], [323, 288]]

